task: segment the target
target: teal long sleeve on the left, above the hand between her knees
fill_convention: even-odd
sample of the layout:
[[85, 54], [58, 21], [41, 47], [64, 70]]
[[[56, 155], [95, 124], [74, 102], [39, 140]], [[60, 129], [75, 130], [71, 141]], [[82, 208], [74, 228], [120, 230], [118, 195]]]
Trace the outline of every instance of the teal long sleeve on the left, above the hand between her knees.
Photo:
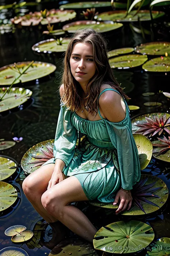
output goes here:
[[75, 153], [76, 141], [77, 130], [71, 124], [71, 111], [61, 104], [53, 148], [55, 160], [60, 158], [66, 166], [69, 165]]

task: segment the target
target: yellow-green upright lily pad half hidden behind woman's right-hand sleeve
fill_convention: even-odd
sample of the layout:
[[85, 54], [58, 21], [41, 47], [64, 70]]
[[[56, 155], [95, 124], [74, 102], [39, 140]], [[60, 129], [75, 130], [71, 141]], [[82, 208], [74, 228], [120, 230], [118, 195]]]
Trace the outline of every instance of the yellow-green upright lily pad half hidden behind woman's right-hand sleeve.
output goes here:
[[137, 146], [141, 170], [143, 170], [151, 161], [153, 151], [152, 143], [142, 134], [133, 134], [133, 138]]

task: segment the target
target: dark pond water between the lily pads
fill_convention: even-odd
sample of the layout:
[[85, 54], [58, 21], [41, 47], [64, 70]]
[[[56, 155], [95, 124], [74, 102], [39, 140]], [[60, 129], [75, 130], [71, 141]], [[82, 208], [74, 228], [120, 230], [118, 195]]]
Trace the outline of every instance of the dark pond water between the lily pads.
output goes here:
[[[8, 2], [9, 3], [9, 2]], [[4, 3], [1, 3], [4, 4]], [[52, 4], [50, 4], [51, 6]], [[57, 8], [58, 4], [55, 2], [52, 6]], [[38, 10], [41, 7], [37, 7]], [[146, 24], [145, 26], [149, 26]], [[60, 24], [61, 27], [61, 24]], [[155, 28], [155, 40], [169, 41], [167, 27], [163, 22], [157, 24]], [[109, 43], [109, 50], [131, 46], [134, 47], [141, 42], [145, 42], [141, 35], [132, 33], [129, 25], [126, 24], [121, 33], [110, 33], [107, 35]], [[60, 71], [62, 63], [62, 54], [60, 55], [36, 55], [33, 53], [31, 47], [35, 43], [44, 40], [42, 30], [36, 28], [20, 28], [16, 29], [15, 33], [6, 33], [0, 35], [0, 67], [14, 62], [36, 60], [55, 64], [57, 69], [52, 75], [27, 84], [20, 85], [33, 91], [32, 98], [24, 105], [23, 110], [14, 109], [5, 116], [0, 116], [0, 139], [12, 140], [14, 136], [23, 137], [22, 142], [10, 149], [0, 151], [1, 155], [13, 157], [20, 163], [24, 153], [38, 142], [53, 139], [57, 125], [57, 118], [60, 109], [60, 100], [58, 96], [58, 86], [60, 85]], [[151, 41], [150, 38], [147, 39]], [[126, 71], [126, 73], [124, 73]], [[128, 74], [128, 75], [127, 75]], [[128, 96], [131, 97], [129, 105], [138, 105], [140, 111], [131, 113], [131, 117], [140, 113], [148, 112], [169, 112], [170, 101], [167, 98], [157, 93], [159, 90], [170, 92], [170, 76], [157, 73], [146, 73], [142, 71], [141, 67], [135, 69], [119, 70], [115, 72], [115, 76], [119, 82], [122, 82], [122, 87], [126, 87]], [[124, 77], [127, 76], [127, 80]], [[134, 87], [134, 88], [133, 88]], [[132, 90], [133, 89], [133, 90]], [[144, 97], [142, 93], [154, 92], [156, 96]], [[148, 108], [143, 105], [147, 101], [159, 100], [162, 106], [159, 108]], [[36, 223], [41, 220], [41, 216], [34, 210], [32, 205], [25, 198], [22, 189], [23, 175], [21, 168], [18, 173], [11, 178], [5, 180], [14, 185], [19, 192], [18, 201], [7, 212], [0, 215], [0, 249], [7, 246], [16, 246], [24, 248], [29, 256], [48, 255], [50, 250], [44, 246], [37, 248], [36, 242], [34, 244], [14, 244], [10, 237], [4, 234], [4, 231], [13, 225], [25, 225], [27, 230], [33, 230]], [[162, 162], [155, 162], [151, 160], [150, 165], [142, 173], [155, 175], [166, 183], [170, 189], [170, 166]], [[16, 177], [18, 175], [18, 177]], [[170, 231], [170, 216], [169, 216], [169, 201], [157, 213], [145, 217], [133, 217], [133, 219], [141, 220], [150, 224], [155, 231], [156, 239], [161, 237], [169, 237]], [[89, 217], [89, 219], [99, 228], [117, 220], [122, 220], [123, 217], [115, 216], [113, 211], [97, 209], [96, 207], [88, 206], [85, 202], [77, 204], [82, 211]], [[46, 230], [44, 236], [50, 236], [50, 232]], [[74, 237], [74, 234], [71, 233]], [[36, 238], [36, 239], [40, 239]], [[41, 237], [42, 239], [42, 237]], [[43, 244], [42, 244], [43, 245]], [[100, 254], [100, 253], [99, 253]], [[141, 255], [144, 255], [143, 252]]]

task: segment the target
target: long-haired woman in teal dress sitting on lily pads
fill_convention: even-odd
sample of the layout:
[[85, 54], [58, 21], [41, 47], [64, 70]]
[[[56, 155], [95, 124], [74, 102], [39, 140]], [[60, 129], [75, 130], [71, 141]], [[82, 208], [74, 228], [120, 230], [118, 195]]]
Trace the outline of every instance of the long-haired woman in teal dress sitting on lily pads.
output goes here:
[[[92, 242], [96, 228], [76, 201], [114, 202], [118, 214], [132, 203], [130, 190], [140, 179], [127, 96], [115, 80], [103, 37], [77, 31], [66, 51], [60, 87], [54, 156], [23, 182], [33, 207], [55, 231], [59, 220]], [[79, 147], [76, 141], [85, 134]], [[67, 179], [65, 179], [65, 175]], [[59, 236], [56, 244], [62, 237]]]

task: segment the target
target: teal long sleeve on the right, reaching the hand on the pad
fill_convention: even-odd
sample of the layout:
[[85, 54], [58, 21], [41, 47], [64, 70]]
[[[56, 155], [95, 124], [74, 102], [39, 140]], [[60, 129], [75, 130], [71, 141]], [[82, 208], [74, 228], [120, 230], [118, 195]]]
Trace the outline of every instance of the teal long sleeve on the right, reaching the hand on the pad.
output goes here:
[[141, 171], [129, 114], [121, 122], [114, 123], [106, 120], [105, 123], [110, 140], [117, 149], [122, 188], [130, 190], [140, 180]]

